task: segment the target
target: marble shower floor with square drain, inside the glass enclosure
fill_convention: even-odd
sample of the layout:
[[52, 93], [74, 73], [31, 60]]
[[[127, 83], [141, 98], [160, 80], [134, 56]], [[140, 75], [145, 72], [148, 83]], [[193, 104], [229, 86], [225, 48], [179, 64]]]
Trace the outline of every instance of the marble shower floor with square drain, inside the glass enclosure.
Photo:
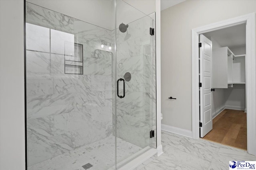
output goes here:
[[[117, 161], [120, 162], [141, 147], [117, 138]], [[84, 147], [66, 152], [54, 158], [28, 167], [28, 170], [84, 170], [83, 165], [90, 163], [89, 170], [106, 170], [115, 164], [115, 138], [107, 137]]]

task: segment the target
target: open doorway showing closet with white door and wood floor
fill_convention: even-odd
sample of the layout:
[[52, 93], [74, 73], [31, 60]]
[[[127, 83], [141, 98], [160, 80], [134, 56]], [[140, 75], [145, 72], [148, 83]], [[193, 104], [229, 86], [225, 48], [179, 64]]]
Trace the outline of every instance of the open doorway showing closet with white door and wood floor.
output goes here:
[[200, 137], [246, 150], [246, 24], [199, 36]]

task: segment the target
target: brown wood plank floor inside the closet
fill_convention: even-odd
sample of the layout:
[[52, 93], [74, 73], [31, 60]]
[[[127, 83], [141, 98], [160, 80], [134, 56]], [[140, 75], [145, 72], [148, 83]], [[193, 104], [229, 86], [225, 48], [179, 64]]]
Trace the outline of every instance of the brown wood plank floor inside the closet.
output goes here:
[[212, 130], [203, 139], [247, 150], [247, 120], [244, 111], [225, 109], [212, 120], [212, 124]]

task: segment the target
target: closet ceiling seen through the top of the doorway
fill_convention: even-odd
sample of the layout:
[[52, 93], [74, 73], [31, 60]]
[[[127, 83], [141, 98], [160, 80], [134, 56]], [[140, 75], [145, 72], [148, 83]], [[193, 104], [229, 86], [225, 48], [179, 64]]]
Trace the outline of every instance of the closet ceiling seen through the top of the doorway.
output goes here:
[[208, 39], [212, 37], [221, 47], [242, 47], [246, 45], [246, 24], [204, 33], [204, 36]]

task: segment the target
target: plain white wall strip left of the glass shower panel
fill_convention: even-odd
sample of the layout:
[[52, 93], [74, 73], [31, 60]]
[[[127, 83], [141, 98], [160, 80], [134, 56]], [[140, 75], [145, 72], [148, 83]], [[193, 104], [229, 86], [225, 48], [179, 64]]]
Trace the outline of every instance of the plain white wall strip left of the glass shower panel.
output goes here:
[[25, 169], [23, 1], [0, 1], [0, 169]]

